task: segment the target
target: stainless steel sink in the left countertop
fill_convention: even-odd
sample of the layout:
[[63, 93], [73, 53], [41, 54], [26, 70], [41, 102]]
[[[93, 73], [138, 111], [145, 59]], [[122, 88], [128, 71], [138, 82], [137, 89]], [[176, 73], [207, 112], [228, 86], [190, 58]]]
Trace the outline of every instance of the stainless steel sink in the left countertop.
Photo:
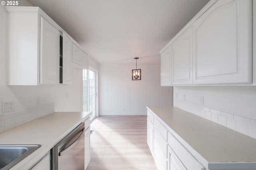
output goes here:
[[0, 170], [8, 170], [40, 148], [40, 144], [3, 145], [0, 144]]

